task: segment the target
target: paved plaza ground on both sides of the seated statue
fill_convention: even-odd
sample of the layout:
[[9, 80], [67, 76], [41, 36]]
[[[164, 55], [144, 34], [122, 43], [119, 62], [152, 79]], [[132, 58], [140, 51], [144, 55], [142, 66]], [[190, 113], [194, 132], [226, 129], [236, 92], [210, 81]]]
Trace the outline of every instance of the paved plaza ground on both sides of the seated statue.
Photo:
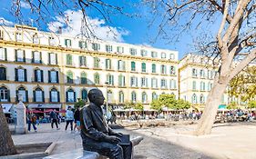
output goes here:
[[[70, 130], [66, 132], [64, 126], [65, 124], [62, 123], [60, 130], [52, 130], [50, 124], [40, 124], [37, 133], [13, 135], [13, 139], [15, 144], [56, 142], [57, 146], [53, 154], [81, 148], [78, 132], [75, 134], [71, 134]], [[212, 134], [208, 136], [179, 134], [194, 127], [195, 124], [143, 129], [126, 128], [117, 131], [131, 134], [132, 137], [137, 135], [144, 137], [135, 149], [138, 159], [252, 159], [256, 156], [255, 123], [215, 124]]]

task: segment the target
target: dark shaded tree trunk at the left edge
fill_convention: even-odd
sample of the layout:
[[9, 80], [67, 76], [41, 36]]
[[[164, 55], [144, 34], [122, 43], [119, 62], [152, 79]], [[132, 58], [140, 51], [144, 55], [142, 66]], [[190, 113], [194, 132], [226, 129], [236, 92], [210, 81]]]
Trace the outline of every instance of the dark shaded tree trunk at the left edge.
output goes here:
[[3, 108], [0, 106], [0, 156], [17, 154]]

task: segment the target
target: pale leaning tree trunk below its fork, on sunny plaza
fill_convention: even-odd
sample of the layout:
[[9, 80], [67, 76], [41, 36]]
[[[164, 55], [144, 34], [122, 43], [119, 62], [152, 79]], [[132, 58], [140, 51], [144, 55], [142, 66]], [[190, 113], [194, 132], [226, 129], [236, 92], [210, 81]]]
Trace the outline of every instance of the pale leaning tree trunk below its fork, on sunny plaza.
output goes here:
[[194, 132], [195, 135], [204, 135], [211, 133], [211, 128], [214, 124], [215, 116], [221, 102], [221, 96], [222, 94], [224, 94], [226, 86], [227, 81], [225, 81], [225, 83], [222, 83], [220, 82], [220, 79], [218, 79], [218, 82], [214, 84], [213, 88], [210, 91], [210, 94], [208, 95], [206, 107], [204, 108], [202, 117], [200, 118], [200, 122], [196, 128], [196, 131]]

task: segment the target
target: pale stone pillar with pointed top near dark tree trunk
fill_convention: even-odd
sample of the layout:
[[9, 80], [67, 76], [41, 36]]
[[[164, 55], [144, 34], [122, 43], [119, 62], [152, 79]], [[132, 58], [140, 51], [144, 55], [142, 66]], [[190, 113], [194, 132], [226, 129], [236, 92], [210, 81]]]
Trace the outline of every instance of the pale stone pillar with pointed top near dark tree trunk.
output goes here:
[[15, 134], [26, 134], [26, 106], [22, 102], [22, 94], [18, 94], [19, 103], [15, 105], [16, 109], [16, 124], [15, 124]]

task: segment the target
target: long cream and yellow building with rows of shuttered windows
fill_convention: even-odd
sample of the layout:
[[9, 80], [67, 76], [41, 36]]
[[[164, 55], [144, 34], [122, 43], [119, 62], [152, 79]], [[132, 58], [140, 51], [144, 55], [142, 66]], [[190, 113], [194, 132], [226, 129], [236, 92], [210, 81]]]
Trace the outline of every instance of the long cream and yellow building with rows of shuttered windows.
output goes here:
[[97, 87], [109, 104], [149, 107], [159, 94], [178, 98], [178, 64], [176, 51], [3, 26], [0, 103], [16, 104], [23, 94], [30, 108], [66, 109]]

